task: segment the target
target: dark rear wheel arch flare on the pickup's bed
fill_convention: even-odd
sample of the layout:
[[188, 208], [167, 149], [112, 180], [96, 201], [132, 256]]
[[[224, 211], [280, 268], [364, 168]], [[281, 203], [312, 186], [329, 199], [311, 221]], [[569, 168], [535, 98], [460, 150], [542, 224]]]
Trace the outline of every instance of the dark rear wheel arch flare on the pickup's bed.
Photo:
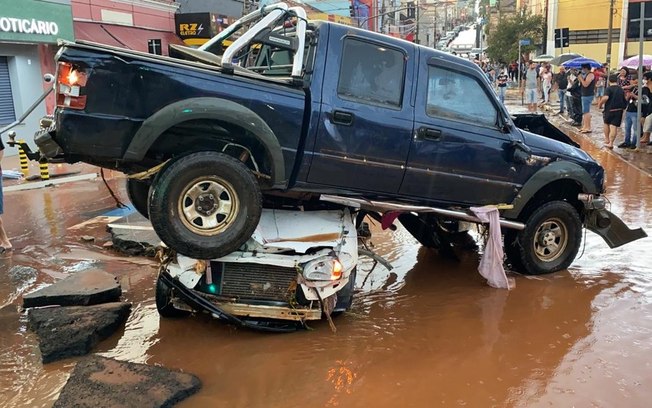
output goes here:
[[193, 120], [216, 120], [244, 129], [254, 135], [269, 155], [272, 184], [283, 184], [285, 160], [281, 145], [267, 123], [254, 111], [221, 98], [192, 98], [167, 105], [147, 118], [134, 135], [124, 154], [125, 161], [141, 161], [150, 147], [168, 129]]

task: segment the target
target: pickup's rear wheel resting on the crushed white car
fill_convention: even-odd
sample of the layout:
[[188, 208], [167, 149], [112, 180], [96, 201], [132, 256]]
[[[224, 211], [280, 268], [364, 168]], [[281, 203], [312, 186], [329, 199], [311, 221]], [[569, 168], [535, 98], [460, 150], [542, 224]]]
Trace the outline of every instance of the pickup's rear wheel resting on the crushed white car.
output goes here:
[[157, 176], [149, 216], [171, 249], [214, 259], [238, 249], [253, 234], [262, 212], [260, 186], [251, 171], [217, 152], [189, 154]]

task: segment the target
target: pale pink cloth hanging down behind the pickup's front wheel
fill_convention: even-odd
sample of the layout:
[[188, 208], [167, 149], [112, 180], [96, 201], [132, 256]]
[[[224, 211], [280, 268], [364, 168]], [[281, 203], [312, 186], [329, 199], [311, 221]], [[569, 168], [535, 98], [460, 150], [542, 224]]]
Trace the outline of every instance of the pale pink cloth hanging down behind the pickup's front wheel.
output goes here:
[[[503, 246], [500, 239], [500, 217], [498, 209], [494, 206], [471, 207], [471, 211], [480, 221], [489, 223], [489, 239], [480, 259], [478, 272], [489, 286], [499, 289], [511, 289], [505, 268], [503, 268]], [[511, 285], [513, 286], [513, 285]]]

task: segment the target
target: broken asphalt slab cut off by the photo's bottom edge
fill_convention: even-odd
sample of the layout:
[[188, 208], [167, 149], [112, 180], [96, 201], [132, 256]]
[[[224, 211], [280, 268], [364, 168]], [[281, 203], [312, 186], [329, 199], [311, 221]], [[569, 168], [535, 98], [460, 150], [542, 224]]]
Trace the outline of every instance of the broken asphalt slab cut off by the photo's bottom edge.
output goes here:
[[54, 407], [171, 407], [200, 388], [192, 374], [91, 356], [77, 363]]

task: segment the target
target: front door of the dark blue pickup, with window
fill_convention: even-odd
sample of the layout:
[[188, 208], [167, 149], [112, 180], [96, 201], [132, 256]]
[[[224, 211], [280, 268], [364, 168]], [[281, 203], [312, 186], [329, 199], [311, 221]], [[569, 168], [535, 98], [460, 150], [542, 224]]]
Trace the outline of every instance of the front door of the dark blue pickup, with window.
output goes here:
[[418, 68], [414, 139], [400, 193], [460, 204], [511, 202], [516, 167], [493, 90], [475, 69], [433, 60], [422, 56]]

